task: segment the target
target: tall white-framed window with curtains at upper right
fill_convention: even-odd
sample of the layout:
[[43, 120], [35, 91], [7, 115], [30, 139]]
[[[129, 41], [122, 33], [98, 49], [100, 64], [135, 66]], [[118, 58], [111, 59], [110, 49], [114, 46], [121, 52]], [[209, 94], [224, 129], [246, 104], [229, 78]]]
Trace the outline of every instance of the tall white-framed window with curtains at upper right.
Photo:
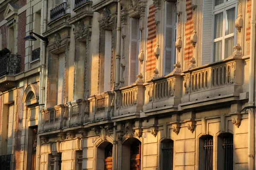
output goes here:
[[236, 0], [215, 0], [213, 16], [213, 62], [215, 62], [233, 53]]

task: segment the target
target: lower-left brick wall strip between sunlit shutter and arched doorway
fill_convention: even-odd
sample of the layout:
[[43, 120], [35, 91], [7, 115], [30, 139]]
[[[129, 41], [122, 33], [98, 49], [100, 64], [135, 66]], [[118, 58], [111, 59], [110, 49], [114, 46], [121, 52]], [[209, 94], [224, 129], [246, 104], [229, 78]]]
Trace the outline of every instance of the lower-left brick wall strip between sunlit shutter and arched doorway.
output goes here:
[[22, 130], [22, 117], [23, 117], [23, 88], [19, 88], [17, 96], [17, 122], [16, 122], [16, 143], [15, 143], [15, 170], [20, 169], [20, 137]]

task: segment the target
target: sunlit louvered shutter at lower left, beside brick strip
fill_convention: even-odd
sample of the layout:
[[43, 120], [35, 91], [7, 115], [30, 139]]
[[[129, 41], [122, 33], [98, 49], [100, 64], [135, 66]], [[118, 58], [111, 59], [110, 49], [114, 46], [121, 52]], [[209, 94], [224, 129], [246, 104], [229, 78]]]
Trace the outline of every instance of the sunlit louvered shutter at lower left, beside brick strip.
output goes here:
[[12, 154], [14, 104], [9, 105], [7, 154]]

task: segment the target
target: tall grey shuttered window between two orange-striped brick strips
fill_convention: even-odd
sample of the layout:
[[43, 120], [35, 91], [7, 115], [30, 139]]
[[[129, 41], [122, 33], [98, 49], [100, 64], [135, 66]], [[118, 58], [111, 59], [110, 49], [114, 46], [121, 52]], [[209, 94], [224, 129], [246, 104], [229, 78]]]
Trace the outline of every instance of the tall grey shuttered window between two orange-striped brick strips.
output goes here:
[[165, 75], [172, 72], [176, 62], [177, 4], [165, 2]]

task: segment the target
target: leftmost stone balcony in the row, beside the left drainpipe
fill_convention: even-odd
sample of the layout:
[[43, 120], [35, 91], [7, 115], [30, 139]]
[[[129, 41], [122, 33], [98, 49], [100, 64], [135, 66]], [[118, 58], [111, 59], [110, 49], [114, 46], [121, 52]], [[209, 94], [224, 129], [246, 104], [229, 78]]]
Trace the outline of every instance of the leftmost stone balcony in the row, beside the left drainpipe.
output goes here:
[[[56, 105], [52, 108], [41, 110], [42, 126], [41, 131], [59, 130], [66, 127], [67, 106]], [[65, 114], [66, 113], [66, 114]]]

